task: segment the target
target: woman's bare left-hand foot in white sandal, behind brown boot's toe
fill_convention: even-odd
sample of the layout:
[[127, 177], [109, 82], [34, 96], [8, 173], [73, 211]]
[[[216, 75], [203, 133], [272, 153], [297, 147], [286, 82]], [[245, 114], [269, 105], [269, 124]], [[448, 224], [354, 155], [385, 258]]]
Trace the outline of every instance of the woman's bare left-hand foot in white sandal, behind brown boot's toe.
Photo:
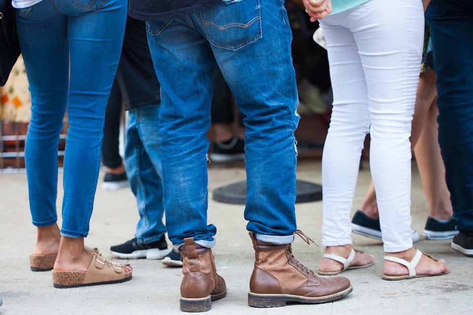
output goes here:
[[[343, 246], [328, 246], [325, 248], [326, 254], [336, 254], [343, 258], [348, 258], [351, 252], [351, 245], [343, 245]], [[355, 252], [355, 258], [350, 263], [350, 266], [365, 266], [368, 264], [372, 264], [374, 262], [373, 255], [365, 254], [361, 252]], [[330, 258], [323, 258], [320, 262], [319, 270], [321, 271], [339, 271], [343, 269], [343, 264], [336, 260]]]

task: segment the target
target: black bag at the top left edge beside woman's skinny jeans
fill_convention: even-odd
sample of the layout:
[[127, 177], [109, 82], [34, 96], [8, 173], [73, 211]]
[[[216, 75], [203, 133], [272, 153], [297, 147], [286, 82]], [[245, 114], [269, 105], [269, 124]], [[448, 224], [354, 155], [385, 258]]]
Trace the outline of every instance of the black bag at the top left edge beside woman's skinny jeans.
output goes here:
[[15, 9], [11, 6], [11, 0], [0, 0], [0, 86], [5, 85], [19, 56]]

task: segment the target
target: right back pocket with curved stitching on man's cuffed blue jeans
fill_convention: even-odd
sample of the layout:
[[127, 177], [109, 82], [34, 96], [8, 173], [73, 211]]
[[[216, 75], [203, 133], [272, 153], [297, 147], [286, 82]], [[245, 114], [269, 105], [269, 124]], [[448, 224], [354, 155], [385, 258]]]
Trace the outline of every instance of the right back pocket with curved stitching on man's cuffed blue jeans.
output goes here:
[[260, 0], [222, 0], [201, 18], [208, 41], [219, 48], [236, 51], [262, 37]]

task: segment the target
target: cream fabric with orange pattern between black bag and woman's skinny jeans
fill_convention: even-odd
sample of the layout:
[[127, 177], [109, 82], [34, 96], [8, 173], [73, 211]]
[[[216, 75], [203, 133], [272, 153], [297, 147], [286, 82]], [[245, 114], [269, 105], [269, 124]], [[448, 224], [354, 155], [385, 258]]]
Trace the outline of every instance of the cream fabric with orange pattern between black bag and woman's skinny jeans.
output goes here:
[[20, 56], [13, 67], [8, 82], [0, 87], [0, 119], [28, 123], [31, 118], [31, 94], [28, 91], [25, 63]]

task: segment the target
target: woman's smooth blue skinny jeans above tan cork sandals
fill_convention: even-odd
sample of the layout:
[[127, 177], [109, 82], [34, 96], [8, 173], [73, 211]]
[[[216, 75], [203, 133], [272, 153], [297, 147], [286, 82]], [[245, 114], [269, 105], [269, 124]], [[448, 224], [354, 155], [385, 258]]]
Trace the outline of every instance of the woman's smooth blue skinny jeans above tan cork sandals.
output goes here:
[[[33, 224], [57, 221], [58, 142], [68, 112], [61, 233], [86, 237], [105, 106], [120, 58], [127, 0], [43, 0], [17, 10], [32, 95], [25, 160]], [[70, 74], [70, 76], [69, 76]]]

